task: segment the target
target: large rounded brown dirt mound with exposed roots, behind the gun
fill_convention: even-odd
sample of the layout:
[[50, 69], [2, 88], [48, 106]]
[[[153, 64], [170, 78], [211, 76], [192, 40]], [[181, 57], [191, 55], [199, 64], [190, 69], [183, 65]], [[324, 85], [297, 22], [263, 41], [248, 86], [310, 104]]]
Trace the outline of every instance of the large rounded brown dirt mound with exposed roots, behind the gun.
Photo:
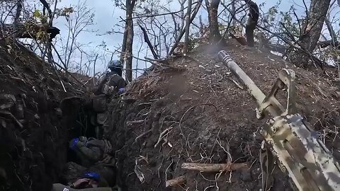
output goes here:
[[[339, 87], [328, 79], [295, 68], [273, 54], [241, 50], [234, 41], [227, 44], [227, 52], [265, 93], [280, 69], [294, 69], [299, 111], [316, 128], [320, 114], [339, 113]], [[122, 103], [113, 107], [119, 108], [121, 117], [112, 120], [115, 133], [109, 137], [117, 150], [124, 190], [261, 188], [259, 129], [265, 121], [256, 119], [255, 101], [217, 59], [217, 52], [204, 50], [169, 60], [165, 64], [171, 68], [160, 65], [152, 74], [133, 81]], [[250, 168], [231, 173], [181, 168], [182, 163], [226, 163], [228, 156], [232, 163], [246, 162]], [[182, 175], [186, 183], [166, 187], [166, 180]], [[274, 170], [273, 178], [273, 190], [290, 190], [288, 178], [280, 170]]]

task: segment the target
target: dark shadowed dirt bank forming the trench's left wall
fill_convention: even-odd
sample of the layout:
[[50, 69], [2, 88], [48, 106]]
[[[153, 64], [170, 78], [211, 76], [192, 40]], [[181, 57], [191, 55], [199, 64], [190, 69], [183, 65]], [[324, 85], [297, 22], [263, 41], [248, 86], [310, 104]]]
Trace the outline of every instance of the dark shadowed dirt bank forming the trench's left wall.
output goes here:
[[67, 162], [60, 101], [77, 84], [19, 43], [0, 42], [0, 190], [50, 190]]

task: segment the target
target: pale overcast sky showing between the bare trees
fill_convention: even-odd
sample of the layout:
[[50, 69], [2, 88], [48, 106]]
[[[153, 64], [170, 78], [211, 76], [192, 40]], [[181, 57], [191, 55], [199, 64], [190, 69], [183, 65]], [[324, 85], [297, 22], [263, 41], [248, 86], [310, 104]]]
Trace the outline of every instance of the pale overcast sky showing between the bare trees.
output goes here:
[[[81, 0], [84, 1], [84, 0]], [[168, 4], [166, 0], [160, 0], [164, 4]], [[254, 0], [257, 4], [262, 4], [265, 3], [265, 6], [263, 7], [263, 11], [267, 11], [268, 8], [271, 6], [274, 6], [278, 3], [278, 1], [273, 1], [273, 0]], [[243, 1], [242, 1], [243, 2]], [[58, 7], [67, 7], [67, 6], [73, 6], [78, 3], [78, 0], [62, 0]], [[307, 1], [309, 3], [309, 1]], [[81, 44], [88, 44], [86, 48], [84, 48], [86, 51], [93, 52], [98, 50], [96, 48], [98, 45], [100, 45], [102, 42], [105, 42], [107, 45], [108, 50], [115, 50], [117, 47], [120, 47], [123, 39], [123, 35], [121, 34], [111, 34], [111, 35], [99, 35], [99, 34], [104, 34], [108, 31], [111, 30], [117, 30], [120, 32], [123, 32], [122, 28], [119, 28], [116, 24], [120, 23], [120, 25], [123, 25], [120, 19], [120, 17], [125, 18], [125, 12], [122, 11], [120, 8], [115, 7], [114, 3], [112, 0], [89, 0], [86, 2], [88, 5], [88, 8], [93, 8], [95, 17], [94, 17], [94, 25], [91, 26], [92, 30], [98, 30], [94, 33], [81, 33], [77, 39], [77, 41]], [[291, 5], [294, 5], [295, 8], [301, 8], [303, 9], [302, 6], [302, 0], [283, 0], [281, 2], [279, 8], [280, 11], [288, 11]], [[171, 6], [172, 5], [172, 6]], [[169, 4], [169, 8], [171, 8], [171, 11], [178, 11], [180, 8], [178, 5], [171, 3]], [[222, 6], [220, 7], [222, 9]], [[203, 16], [203, 21], [208, 21], [208, 16], [206, 15], [205, 11], [202, 10], [200, 13]], [[65, 27], [66, 20], [63, 17], [57, 18], [55, 20], [55, 25], [61, 29], [61, 33], [59, 38], [66, 38], [67, 37], [67, 28]], [[140, 40], [139, 37], [135, 37], [135, 42], [134, 42], [134, 50], [135, 52], [137, 49], [140, 47], [140, 43], [142, 41]], [[59, 44], [57, 44], [59, 45]], [[134, 53], [135, 54], [135, 53]], [[97, 69], [99, 71], [104, 71], [105, 70], [105, 64], [103, 62], [107, 62], [110, 60], [110, 54], [106, 56], [106, 60], [100, 60], [98, 61], [98, 67]], [[142, 56], [144, 57], [144, 56]], [[79, 59], [79, 54], [74, 55], [74, 59]], [[113, 59], [118, 59], [118, 54], [113, 55]], [[139, 62], [138, 68], [145, 68], [145, 63], [144, 62]]]

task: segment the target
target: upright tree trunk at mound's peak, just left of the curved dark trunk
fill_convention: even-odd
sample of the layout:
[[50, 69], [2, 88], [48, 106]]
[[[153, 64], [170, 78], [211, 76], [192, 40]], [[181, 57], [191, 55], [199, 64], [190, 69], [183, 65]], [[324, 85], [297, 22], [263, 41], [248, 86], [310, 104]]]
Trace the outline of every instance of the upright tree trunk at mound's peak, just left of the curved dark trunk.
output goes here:
[[209, 0], [205, 0], [205, 5], [208, 9], [208, 18], [209, 18], [209, 41], [210, 42], [219, 42], [222, 38], [220, 34], [220, 30], [218, 30], [218, 21], [217, 21], [217, 9], [220, 5], [220, 0], [212, 0], [209, 3]]

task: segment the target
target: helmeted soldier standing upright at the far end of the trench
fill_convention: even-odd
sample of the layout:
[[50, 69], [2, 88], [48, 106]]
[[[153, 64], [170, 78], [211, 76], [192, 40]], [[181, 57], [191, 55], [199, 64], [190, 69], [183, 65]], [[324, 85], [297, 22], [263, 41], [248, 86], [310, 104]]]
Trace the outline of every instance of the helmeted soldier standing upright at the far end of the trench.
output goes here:
[[[126, 82], [122, 78], [123, 64], [119, 60], [113, 60], [108, 63], [107, 72], [97, 83], [94, 89], [93, 108], [96, 112], [96, 138], [101, 139], [103, 136], [103, 125], [108, 122], [108, 99], [118, 96], [125, 91]], [[105, 125], [104, 125], [105, 126]]]

